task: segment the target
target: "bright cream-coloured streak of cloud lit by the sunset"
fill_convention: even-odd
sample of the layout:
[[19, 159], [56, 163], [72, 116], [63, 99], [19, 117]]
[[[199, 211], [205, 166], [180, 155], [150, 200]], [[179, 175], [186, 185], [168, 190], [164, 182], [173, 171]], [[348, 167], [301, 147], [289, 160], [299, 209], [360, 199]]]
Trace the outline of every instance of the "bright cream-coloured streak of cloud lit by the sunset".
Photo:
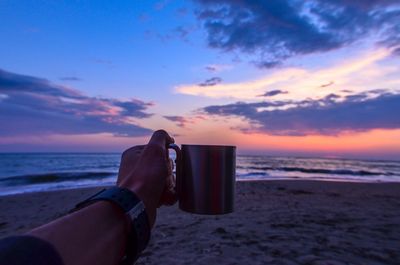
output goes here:
[[[390, 56], [389, 49], [366, 50], [351, 57], [340, 59], [322, 69], [284, 68], [264, 73], [257, 79], [219, 83], [214, 86], [182, 84], [175, 87], [178, 93], [210, 98], [234, 98], [255, 100], [265, 91], [282, 90], [289, 93], [280, 98], [305, 99], [310, 95], [323, 97], [332, 91], [346, 89], [355, 93], [376, 87], [400, 86], [400, 71], [396, 63], [384, 62]], [[322, 89], [321, 84], [329, 88]], [[339, 93], [339, 92], [338, 92]]]

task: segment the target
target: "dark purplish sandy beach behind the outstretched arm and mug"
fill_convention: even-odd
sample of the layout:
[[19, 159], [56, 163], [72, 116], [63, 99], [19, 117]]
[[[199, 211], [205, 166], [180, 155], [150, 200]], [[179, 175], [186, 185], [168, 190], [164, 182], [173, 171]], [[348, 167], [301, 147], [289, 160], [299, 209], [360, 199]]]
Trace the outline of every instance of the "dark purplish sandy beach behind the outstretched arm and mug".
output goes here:
[[[0, 237], [60, 217], [96, 190], [0, 197]], [[400, 264], [400, 183], [239, 182], [232, 214], [159, 209], [137, 264]]]

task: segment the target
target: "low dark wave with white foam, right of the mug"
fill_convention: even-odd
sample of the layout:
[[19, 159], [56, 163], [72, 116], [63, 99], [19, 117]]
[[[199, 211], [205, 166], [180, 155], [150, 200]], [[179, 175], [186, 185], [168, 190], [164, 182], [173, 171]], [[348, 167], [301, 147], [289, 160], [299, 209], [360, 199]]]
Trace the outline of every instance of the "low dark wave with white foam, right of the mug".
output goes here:
[[303, 167], [238, 167], [247, 170], [272, 170], [285, 172], [301, 172], [308, 174], [327, 174], [327, 175], [349, 175], [349, 176], [393, 176], [392, 172], [377, 172], [367, 170], [350, 170], [350, 169], [322, 169], [322, 168], [303, 168]]

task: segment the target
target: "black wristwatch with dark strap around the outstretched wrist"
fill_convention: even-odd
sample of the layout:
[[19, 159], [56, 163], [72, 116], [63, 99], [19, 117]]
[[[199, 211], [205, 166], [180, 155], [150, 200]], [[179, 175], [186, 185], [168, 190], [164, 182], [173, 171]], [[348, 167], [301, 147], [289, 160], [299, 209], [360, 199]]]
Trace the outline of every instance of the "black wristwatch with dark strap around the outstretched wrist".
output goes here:
[[132, 221], [126, 255], [121, 264], [133, 264], [150, 240], [150, 224], [144, 203], [129, 189], [112, 187], [103, 189], [78, 203], [74, 210], [81, 209], [96, 201], [110, 201], [120, 207]]

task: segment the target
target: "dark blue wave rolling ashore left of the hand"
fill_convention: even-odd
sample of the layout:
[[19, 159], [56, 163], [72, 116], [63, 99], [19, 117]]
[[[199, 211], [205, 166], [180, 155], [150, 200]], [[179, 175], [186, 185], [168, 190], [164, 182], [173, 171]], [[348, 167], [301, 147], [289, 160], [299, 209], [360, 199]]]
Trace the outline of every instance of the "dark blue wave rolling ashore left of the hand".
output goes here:
[[83, 179], [104, 179], [116, 175], [116, 172], [58, 172], [0, 178], [0, 183], [5, 186], [18, 186], [40, 183], [64, 182], [71, 180], [76, 181]]

